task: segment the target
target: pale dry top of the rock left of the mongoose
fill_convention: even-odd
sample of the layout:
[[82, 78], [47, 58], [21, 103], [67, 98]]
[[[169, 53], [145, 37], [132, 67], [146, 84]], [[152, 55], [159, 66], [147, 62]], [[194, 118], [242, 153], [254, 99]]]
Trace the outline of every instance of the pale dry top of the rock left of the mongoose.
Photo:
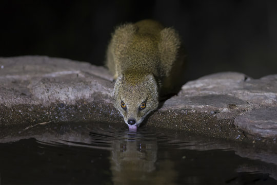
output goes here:
[[49, 57], [0, 58], [0, 103], [50, 105], [93, 101], [101, 93], [111, 102], [112, 77], [101, 66]]

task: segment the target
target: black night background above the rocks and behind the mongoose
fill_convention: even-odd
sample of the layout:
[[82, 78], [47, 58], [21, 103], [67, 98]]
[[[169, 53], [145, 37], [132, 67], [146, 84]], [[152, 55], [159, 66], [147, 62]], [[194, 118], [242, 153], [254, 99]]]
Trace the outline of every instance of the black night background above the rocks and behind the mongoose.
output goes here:
[[114, 27], [153, 18], [182, 35], [188, 79], [277, 73], [277, 1], [0, 1], [0, 57], [48, 55], [103, 65]]

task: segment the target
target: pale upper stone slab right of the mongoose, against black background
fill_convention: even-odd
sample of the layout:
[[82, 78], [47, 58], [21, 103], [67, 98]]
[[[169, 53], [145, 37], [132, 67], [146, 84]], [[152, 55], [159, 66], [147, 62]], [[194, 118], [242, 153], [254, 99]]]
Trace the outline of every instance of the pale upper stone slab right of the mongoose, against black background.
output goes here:
[[228, 95], [249, 104], [251, 109], [277, 106], [277, 80], [271, 77], [254, 80], [238, 72], [215, 73], [188, 82], [179, 95]]

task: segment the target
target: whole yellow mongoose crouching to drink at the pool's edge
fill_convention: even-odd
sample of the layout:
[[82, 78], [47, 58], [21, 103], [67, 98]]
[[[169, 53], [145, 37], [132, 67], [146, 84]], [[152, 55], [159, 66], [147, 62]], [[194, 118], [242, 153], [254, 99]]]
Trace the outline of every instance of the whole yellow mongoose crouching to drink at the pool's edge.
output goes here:
[[136, 129], [157, 108], [159, 95], [169, 93], [172, 82], [180, 78], [176, 71], [182, 70], [180, 47], [179, 34], [155, 21], [143, 20], [115, 29], [106, 65], [116, 79], [114, 107], [129, 128]]

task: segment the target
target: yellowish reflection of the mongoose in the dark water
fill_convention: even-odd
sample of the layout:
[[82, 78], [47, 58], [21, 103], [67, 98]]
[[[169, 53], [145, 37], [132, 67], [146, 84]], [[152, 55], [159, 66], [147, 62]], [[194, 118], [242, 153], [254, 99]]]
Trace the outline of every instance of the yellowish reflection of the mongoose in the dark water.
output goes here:
[[122, 140], [116, 139], [112, 146], [111, 170], [115, 184], [129, 184], [137, 179], [149, 179], [147, 176], [155, 170], [157, 143], [145, 143], [127, 133], [126, 137]]

